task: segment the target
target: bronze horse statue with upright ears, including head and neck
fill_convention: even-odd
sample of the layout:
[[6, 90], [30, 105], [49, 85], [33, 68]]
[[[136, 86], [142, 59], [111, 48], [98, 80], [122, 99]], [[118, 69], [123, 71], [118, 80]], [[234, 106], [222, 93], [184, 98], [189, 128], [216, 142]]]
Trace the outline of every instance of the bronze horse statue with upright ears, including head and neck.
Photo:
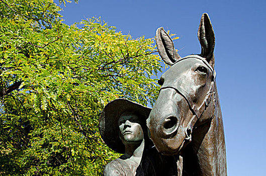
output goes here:
[[158, 28], [156, 44], [165, 63], [158, 99], [147, 119], [150, 138], [165, 155], [179, 155], [183, 175], [227, 175], [225, 139], [214, 70], [215, 36], [208, 14], [198, 30], [201, 54], [180, 57]]

